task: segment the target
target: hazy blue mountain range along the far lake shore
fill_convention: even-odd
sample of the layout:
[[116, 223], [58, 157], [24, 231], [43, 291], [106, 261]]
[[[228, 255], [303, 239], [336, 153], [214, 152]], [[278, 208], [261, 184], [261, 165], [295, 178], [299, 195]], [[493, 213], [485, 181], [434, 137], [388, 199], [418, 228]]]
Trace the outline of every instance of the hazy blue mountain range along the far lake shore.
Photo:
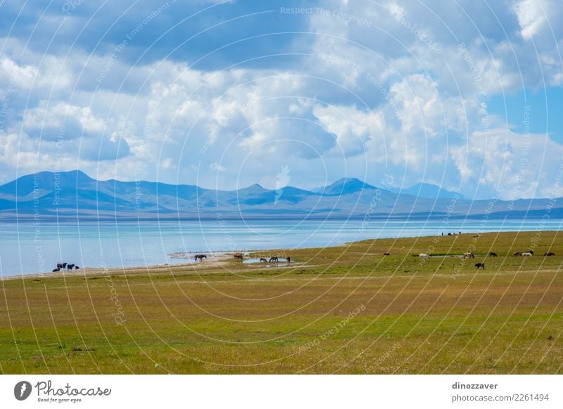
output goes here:
[[[0, 220], [358, 218], [541, 219], [563, 216], [561, 200], [466, 200], [426, 183], [377, 188], [343, 178], [315, 191], [258, 184], [239, 190], [149, 181], [97, 181], [82, 171], [21, 176], [0, 186]], [[554, 206], [555, 203], [555, 206]]]

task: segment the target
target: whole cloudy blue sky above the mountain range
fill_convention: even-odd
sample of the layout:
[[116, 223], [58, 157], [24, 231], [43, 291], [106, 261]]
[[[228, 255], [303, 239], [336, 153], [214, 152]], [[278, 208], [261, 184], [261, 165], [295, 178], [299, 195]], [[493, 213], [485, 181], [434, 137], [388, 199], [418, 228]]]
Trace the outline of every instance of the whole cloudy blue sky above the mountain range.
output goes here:
[[560, 0], [0, 3], [0, 183], [563, 196]]

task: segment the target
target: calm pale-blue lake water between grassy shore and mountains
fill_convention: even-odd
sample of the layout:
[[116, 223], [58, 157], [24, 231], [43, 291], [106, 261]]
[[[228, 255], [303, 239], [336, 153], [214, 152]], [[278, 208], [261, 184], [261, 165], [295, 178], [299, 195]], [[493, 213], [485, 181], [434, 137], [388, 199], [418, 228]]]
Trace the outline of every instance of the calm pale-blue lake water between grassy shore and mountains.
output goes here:
[[322, 247], [368, 238], [442, 232], [561, 230], [563, 221], [539, 220], [253, 220], [0, 223], [0, 273], [51, 271], [61, 261], [81, 267], [151, 266], [190, 262], [175, 252]]

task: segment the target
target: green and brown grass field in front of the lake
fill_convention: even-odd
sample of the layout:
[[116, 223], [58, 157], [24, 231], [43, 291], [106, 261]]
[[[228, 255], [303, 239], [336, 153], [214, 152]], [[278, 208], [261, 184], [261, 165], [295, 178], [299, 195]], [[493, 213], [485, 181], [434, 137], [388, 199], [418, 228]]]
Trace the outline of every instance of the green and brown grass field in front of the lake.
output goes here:
[[291, 265], [4, 280], [0, 372], [563, 373], [562, 239], [367, 240]]

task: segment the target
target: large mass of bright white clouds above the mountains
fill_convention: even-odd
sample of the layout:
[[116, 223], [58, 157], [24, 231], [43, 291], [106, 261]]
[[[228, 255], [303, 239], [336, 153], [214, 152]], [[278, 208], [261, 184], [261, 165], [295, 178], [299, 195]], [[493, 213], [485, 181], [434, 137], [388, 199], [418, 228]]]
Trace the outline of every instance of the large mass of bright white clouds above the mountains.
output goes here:
[[563, 40], [555, 23], [563, 6], [548, 0], [490, 6], [494, 15], [473, 3], [328, 1], [325, 10], [369, 24], [332, 13], [304, 16], [313, 34], [295, 43], [308, 56], [282, 68], [201, 70], [179, 60], [132, 65], [125, 52], [43, 55], [6, 39], [0, 91], [10, 81], [15, 90], [4, 112], [0, 167], [4, 174], [55, 167], [59, 157], [68, 169], [80, 159], [84, 170], [104, 167], [100, 174], [124, 179], [158, 172], [176, 181], [181, 173], [188, 178], [182, 182], [215, 186], [220, 173], [220, 187], [232, 188], [275, 184], [289, 164], [295, 186], [350, 175], [377, 184], [388, 171], [407, 185], [422, 178], [450, 186], [463, 181], [469, 191], [501, 197], [517, 183], [510, 175], [521, 172], [522, 195], [548, 194], [561, 145], [533, 135], [526, 155], [543, 167], [520, 169], [521, 136], [502, 131], [507, 124], [487, 115], [479, 96], [489, 100], [544, 80], [562, 84]]

